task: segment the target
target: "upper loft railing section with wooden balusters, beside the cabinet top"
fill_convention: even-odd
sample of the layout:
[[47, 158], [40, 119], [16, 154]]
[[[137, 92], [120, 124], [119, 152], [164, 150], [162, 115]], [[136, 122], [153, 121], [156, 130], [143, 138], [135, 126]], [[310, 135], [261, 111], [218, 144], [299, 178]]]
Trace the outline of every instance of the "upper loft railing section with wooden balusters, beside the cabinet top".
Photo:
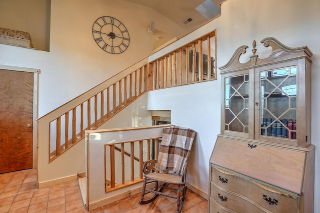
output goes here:
[[148, 90], [216, 80], [215, 30], [149, 62]]

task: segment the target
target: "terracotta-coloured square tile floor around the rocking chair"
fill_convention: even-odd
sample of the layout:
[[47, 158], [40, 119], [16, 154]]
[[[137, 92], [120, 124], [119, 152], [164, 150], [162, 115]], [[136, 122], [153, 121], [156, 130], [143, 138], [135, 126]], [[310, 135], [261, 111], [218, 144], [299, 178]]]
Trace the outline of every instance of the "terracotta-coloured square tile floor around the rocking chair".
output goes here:
[[[77, 180], [36, 188], [36, 170], [0, 174], [0, 213], [175, 213], [175, 200], [159, 196], [138, 205], [140, 194], [87, 211]], [[188, 190], [183, 213], [206, 213], [207, 201]]]

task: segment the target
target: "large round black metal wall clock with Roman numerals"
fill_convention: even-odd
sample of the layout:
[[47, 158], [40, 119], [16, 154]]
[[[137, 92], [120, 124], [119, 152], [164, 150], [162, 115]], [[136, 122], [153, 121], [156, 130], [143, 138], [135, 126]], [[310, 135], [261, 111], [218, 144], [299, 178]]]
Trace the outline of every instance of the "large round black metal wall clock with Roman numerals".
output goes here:
[[92, 34], [97, 45], [112, 54], [122, 53], [129, 46], [128, 30], [118, 19], [110, 16], [96, 19], [92, 26]]

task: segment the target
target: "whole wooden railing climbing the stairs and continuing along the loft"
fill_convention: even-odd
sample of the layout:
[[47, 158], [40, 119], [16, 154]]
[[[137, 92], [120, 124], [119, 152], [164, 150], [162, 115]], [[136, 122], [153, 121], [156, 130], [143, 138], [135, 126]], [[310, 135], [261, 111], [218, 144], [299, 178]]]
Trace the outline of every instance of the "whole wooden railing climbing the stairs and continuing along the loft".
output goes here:
[[215, 31], [148, 62], [143, 59], [38, 119], [38, 141], [58, 156], [146, 91], [216, 79]]

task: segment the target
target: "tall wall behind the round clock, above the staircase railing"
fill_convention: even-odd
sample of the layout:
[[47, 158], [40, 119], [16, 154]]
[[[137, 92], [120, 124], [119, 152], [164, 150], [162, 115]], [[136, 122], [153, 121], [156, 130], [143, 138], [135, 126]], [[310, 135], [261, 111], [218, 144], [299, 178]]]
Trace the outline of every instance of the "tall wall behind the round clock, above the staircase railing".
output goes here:
[[[183, 31], [153, 9], [124, 0], [52, 0], [50, 13], [49, 52], [0, 44], [0, 64], [40, 69], [38, 117], [151, 54], [150, 20], [172, 34]], [[130, 44], [123, 53], [104, 52], [95, 43], [92, 25], [101, 16], [126, 26]]]

